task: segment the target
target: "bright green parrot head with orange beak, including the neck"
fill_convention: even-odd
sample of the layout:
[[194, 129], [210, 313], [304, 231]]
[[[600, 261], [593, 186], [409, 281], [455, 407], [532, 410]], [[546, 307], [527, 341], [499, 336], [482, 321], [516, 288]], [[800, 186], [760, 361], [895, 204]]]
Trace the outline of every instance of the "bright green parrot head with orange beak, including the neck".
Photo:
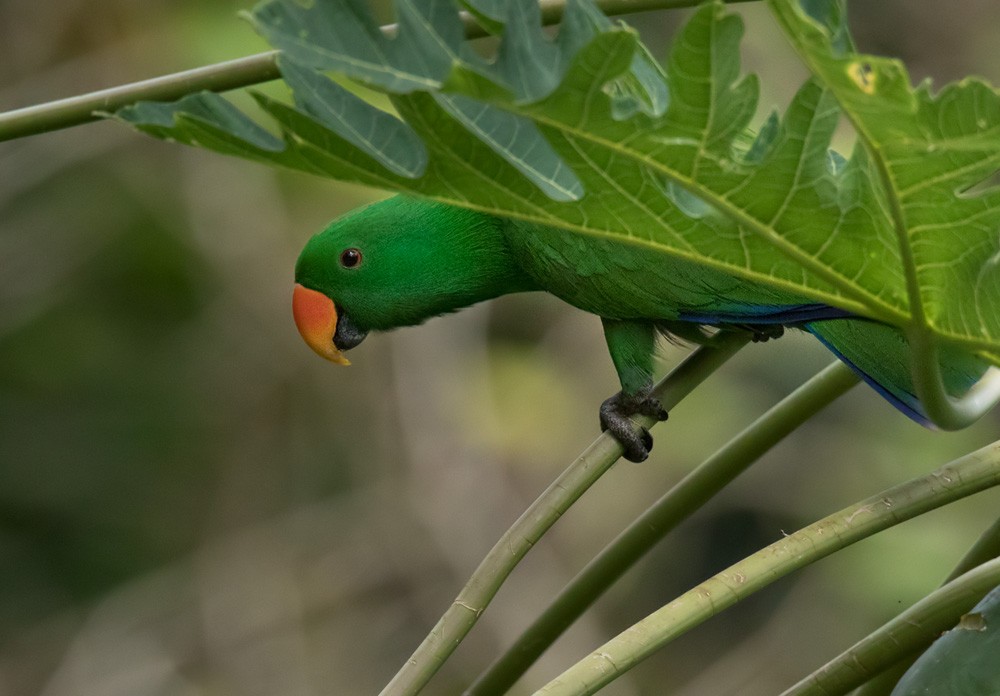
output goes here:
[[344, 352], [371, 331], [521, 289], [502, 225], [491, 215], [404, 196], [335, 220], [295, 265], [299, 333], [322, 357], [348, 365]]

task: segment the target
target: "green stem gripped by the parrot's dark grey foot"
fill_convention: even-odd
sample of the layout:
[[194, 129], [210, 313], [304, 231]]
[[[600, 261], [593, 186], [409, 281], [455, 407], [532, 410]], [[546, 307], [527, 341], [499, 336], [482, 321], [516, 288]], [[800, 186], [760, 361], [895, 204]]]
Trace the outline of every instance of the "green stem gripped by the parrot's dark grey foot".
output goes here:
[[[709, 375], [746, 345], [743, 332], [719, 334], [711, 345], [702, 346], [654, 389], [663, 407], [671, 409]], [[648, 416], [634, 419], [645, 427], [655, 422]], [[476, 568], [469, 582], [420, 644], [413, 656], [383, 689], [382, 696], [417, 694], [475, 625], [504, 580], [542, 535], [622, 455], [613, 437], [602, 433], [528, 507]]]

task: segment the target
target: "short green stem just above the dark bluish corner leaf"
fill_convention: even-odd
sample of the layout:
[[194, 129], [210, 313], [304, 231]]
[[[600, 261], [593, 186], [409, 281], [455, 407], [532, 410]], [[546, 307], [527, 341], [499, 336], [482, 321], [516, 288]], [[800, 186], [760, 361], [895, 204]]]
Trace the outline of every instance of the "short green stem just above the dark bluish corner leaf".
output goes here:
[[1000, 585], [1000, 559], [988, 561], [927, 595], [781, 696], [844, 694], [933, 642], [991, 589]]

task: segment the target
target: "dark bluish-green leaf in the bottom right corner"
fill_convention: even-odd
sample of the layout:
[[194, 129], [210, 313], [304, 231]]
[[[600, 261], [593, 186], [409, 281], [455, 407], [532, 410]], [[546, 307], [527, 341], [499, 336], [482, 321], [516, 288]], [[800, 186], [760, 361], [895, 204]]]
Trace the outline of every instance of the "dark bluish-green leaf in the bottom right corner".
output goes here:
[[938, 638], [899, 680], [892, 696], [1000, 693], [1000, 587]]

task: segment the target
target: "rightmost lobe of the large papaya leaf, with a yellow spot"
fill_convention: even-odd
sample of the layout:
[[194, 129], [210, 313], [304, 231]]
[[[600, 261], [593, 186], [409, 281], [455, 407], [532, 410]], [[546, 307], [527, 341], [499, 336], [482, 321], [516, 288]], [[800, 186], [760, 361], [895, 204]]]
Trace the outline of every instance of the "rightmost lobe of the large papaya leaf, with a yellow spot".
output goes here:
[[847, 50], [815, 12], [786, 0], [769, 5], [877, 162], [923, 321], [941, 336], [995, 349], [1000, 189], [979, 185], [1000, 169], [1000, 93], [975, 78], [936, 93], [927, 82], [911, 87], [898, 60]]

